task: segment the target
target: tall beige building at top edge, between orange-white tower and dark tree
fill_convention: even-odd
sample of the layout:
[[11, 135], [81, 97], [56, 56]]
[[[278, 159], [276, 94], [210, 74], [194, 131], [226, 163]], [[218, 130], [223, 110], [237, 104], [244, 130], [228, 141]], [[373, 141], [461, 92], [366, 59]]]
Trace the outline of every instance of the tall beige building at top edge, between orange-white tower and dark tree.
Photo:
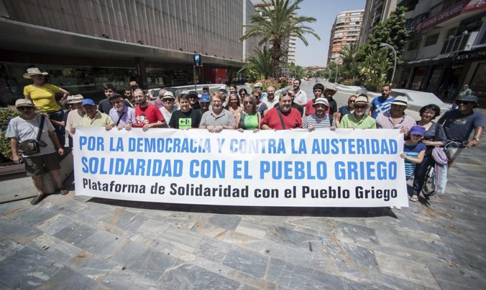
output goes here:
[[[428, 0], [425, 0], [428, 1]], [[366, 0], [363, 25], [359, 37], [359, 44], [367, 42], [373, 28], [390, 17], [390, 13], [397, 7], [397, 0]]]

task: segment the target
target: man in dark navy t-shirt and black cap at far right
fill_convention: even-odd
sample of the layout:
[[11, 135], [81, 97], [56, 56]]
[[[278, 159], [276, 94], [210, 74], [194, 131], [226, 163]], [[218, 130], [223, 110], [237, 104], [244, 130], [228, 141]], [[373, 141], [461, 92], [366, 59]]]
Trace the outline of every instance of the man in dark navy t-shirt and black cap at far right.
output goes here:
[[[442, 124], [448, 140], [459, 143], [467, 141], [466, 147], [468, 148], [478, 146], [485, 127], [483, 114], [473, 110], [478, 106], [478, 97], [473, 95], [460, 96], [457, 104], [459, 105], [457, 109], [447, 111], [437, 123]], [[468, 141], [473, 129], [474, 136]], [[459, 146], [446, 149], [449, 158], [448, 166], [452, 165], [462, 149]]]

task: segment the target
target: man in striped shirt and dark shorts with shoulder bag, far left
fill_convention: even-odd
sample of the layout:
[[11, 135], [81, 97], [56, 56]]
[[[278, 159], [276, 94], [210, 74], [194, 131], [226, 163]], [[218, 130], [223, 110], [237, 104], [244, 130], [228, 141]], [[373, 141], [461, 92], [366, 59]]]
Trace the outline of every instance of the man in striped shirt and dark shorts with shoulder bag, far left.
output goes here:
[[[15, 107], [19, 110], [21, 116], [10, 120], [5, 137], [10, 138], [12, 160], [16, 164], [20, 164], [19, 149], [26, 149], [22, 152], [22, 158], [24, 159], [27, 175], [32, 177], [32, 182], [37, 190], [37, 196], [30, 201], [30, 204], [36, 205], [47, 196], [42, 191], [42, 175], [48, 172], [51, 172], [54, 177], [58, 187], [57, 192], [61, 195], [69, 193], [62, 186], [59, 172], [61, 166], [59, 165], [58, 155], [63, 155], [64, 149], [61, 147], [59, 139], [57, 139], [54, 126], [46, 117], [35, 113], [35, 106], [30, 100], [19, 99], [15, 102]], [[27, 140], [37, 139], [38, 151], [28, 151], [27, 149], [30, 149], [30, 147], [25, 145], [32, 142]], [[23, 142], [26, 143], [23, 144]]]

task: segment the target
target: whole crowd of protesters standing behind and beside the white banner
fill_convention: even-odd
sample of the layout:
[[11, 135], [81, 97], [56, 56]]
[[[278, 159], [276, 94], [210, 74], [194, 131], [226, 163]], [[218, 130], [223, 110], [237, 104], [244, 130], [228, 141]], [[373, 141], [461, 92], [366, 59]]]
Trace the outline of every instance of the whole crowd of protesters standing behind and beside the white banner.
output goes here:
[[[433, 149], [446, 147], [450, 166], [463, 148], [479, 144], [484, 129], [483, 114], [474, 111], [478, 98], [470, 94], [459, 95], [457, 107], [447, 111], [435, 123], [432, 120], [440, 115], [437, 105], [422, 107], [421, 119], [416, 121], [405, 113], [407, 98], [392, 97], [389, 85], [383, 85], [381, 96], [372, 102], [366, 94], [351, 95], [347, 105], [338, 108], [333, 99], [337, 92], [334, 86], [324, 87], [316, 83], [312, 92], [314, 98], [307, 101], [307, 94], [300, 88], [300, 79], [295, 79], [293, 88], [278, 96], [274, 87], [269, 86], [262, 92], [262, 84], [256, 83], [251, 92], [230, 85], [228, 98], [224, 87], [210, 93], [209, 87], [205, 86], [201, 95], [186, 90], [177, 98], [171, 91], [161, 89], [156, 100], [151, 100], [149, 94], [131, 81], [123, 95], [118, 94], [113, 85], [106, 84], [105, 98], [96, 104], [92, 99], [82, 95], [70, 96], [68, 91], [45, 83], [46, 75], [38, 68], [29, 68], [24, 74], [24, 78], [32, 79], [33, 84], [24, 88], [25, 99], [17, 100], [15, 106], [21, 116], [10, 121], [5, 134], [11, 138], [13, 161], [21, 162], [20, 148], [27, 174], [37, 189], [38, 195], [32, 199], [32, 204], [47, 196], [42, 191], [40, 178], [47, 171], [52, 172], [59, 193], [68, 193], [60, 181], [58, 155], [64, 154], [64, 147], [72, 147], [77, 127], [141, 128], [142, 131], [168, 127], [206, 129], [209, 132], [399, 129], [405, 136], [401, 154], [405, 159], [405, 175], [407, 179], [414, 177], [412, 202], [418, 201], [426, 170], [434, 162]], [[55, 99], [57, 93], [62, 95], [60, 104]], [[61, 105], [68, 110], [65, 112]], [[36, 108], [40, 114], [35, 112]], [[473, 131], [473, 137], [469, 138]]]

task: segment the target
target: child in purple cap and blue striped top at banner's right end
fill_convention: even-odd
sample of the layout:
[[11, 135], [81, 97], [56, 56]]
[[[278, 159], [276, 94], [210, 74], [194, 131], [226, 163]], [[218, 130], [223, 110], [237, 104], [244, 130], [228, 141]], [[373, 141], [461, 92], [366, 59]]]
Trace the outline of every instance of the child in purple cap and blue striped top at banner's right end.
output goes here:
[[422, 144], [422, 139], [425, 135], [425, 128], [421, 126], [413, 126], [410, 129], [410, 139], [404, 142], [404, 153], [400, 154], [401, 158], [405, 159], [405, 177], [409, 180], [415, 171], [415, 164], [419, 164], [424, 159], [425, 150], [427, 149]]

